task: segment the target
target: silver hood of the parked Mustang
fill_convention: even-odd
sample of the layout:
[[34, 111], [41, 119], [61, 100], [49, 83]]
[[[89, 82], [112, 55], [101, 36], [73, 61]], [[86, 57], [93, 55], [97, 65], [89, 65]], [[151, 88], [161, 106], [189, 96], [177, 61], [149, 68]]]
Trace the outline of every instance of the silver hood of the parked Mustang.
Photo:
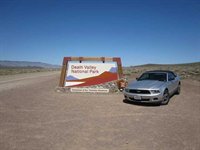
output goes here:
[[158, 89], [165, 82], [155, 81], [155, 80], [143, 80], [143, 81], [133, 81], [128, 85], [128, 88], [131, 89]]

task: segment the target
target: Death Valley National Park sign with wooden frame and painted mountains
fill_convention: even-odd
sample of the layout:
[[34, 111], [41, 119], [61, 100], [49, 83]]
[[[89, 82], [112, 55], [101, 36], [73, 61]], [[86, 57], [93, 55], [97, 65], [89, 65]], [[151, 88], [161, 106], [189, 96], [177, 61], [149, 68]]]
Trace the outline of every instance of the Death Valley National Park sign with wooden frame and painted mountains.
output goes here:
[[122, 77], [119, 57], [64, 57], [59, 86], [88, 87], [118, 81]]

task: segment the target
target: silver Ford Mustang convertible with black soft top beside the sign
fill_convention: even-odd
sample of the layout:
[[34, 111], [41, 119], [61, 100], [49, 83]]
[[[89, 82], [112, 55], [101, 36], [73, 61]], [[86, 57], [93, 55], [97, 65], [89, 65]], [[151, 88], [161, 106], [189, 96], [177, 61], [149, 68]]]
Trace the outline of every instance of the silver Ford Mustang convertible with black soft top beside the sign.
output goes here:
[[181, 82], [172, 71], [155, 70], [143, 73], [124, 89], [128, 101], [166, 105], [173, 94], [179, 94]]

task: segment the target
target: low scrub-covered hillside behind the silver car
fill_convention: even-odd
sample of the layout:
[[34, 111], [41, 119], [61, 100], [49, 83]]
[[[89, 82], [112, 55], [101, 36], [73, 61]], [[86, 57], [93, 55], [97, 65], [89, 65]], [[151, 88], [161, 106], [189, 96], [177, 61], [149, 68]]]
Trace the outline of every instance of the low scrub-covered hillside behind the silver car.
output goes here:
[[200, 62], [185, 64], [145, 64], [123, 68], [127, 78], [134, 78], [144, 71], [149, 70], [172, 70], [180, 75], [181, 78], [191, 78], [200, 81]]

